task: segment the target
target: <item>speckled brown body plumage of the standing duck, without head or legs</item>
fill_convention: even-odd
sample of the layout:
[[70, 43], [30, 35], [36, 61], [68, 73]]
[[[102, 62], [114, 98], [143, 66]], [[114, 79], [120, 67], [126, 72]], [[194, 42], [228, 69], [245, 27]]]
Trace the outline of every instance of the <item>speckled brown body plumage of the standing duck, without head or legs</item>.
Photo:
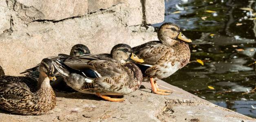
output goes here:
[[152, 65], [144, 74], [152, 78], [167, 78], [188, 64], [190, 49], [188, 44], [177, 41], [173, 46], [166, 46], [160, 41], [150, 41], [132, 48], [135, 54], [144, 59], [146, 65]]

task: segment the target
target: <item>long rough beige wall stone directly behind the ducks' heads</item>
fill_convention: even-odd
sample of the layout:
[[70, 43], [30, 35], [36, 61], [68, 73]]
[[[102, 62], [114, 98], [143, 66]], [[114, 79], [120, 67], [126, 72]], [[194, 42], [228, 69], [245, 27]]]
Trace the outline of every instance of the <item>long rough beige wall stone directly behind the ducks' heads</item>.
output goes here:
[[[35, 21], [24, 24], [13, 14], [13, 32], [0, 36], [0, 65], [6, 75], [20, 75], [43, 58], [69, 54], [71, 47], [82, 43], [92, 53], [110, 52], [118, 43], [137, 46], [157, 40], [156, 33], [127, 27], [131, 10], [127, 3], [117, 4], [96, 13], [59, 22]], [[120, 11], [124, 10], [124, 11]]]

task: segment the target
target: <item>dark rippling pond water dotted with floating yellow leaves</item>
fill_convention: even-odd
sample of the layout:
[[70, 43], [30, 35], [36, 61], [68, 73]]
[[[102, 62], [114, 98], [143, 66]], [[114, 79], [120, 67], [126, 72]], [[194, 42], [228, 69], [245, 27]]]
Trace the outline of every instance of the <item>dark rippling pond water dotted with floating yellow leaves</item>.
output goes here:
[[255, 0], [166, 0], [165, 7], [165, 22], [193, 42], [190, 63], [163, 80], [256, 118]]

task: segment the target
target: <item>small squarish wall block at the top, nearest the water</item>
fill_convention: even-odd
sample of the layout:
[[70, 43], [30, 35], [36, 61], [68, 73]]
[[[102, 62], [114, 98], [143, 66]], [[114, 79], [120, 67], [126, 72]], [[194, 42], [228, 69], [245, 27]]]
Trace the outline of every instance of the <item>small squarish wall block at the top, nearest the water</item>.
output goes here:
[[164, 20], [164, 0], [143, 0], [146, 24], [156, 24]]

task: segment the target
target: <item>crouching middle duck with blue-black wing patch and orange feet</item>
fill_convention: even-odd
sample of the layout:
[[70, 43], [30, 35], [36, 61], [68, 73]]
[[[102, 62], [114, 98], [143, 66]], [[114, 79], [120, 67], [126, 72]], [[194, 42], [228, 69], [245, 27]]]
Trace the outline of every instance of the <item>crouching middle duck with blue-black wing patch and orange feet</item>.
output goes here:
[[117, 44], [110, 54], [85, 54], [69, 56], [60, 54], [52, 57], [55, 68], [63, 74], [64, 81], [73, 89], [114, 102], [123, 98], [106, 95], [125, 95], [139, 89], [142, 82], [141, 70], [129, 60], [143, 62], [133, 54], [127, 44]]

